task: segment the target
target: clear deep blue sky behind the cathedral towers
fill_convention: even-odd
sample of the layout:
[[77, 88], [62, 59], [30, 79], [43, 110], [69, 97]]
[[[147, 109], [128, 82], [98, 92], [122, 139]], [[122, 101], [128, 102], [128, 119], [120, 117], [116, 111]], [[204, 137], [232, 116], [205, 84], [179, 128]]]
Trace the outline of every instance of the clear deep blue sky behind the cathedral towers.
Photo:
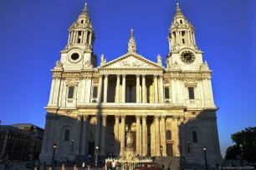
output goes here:
[[[2, 0], [0, 2], [1, 117], [3, 124], [32, 122], [44, 127], [50, 69], [68, 41], [69, 26], [85, 0]], [[95, 28], [95, 52], [107, 61], [126, 52], [134, 28], [137, 51], [165, 61], [167, 35], [176, 9], [171, 0], [88, 0]], [[230, 135], [256, 126], [255, 1], [180, 0], [196, 28], [196, 42], [213, 70], [222, 148]], [[100, 59], [99, 59], [100, 61]]]

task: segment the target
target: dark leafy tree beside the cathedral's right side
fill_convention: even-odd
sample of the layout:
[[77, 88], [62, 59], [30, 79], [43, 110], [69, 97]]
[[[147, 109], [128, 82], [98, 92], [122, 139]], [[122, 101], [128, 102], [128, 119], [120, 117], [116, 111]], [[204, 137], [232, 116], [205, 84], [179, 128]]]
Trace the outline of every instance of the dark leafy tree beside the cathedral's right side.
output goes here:
[[227, 148], [225, 158], [236, 158], [237, 155], [241, 155], [243, 150], [243, 160], [256, 163], [256, 127], [245, 128], [241, 132], [233, 133], [231, 139], [236, 145]]

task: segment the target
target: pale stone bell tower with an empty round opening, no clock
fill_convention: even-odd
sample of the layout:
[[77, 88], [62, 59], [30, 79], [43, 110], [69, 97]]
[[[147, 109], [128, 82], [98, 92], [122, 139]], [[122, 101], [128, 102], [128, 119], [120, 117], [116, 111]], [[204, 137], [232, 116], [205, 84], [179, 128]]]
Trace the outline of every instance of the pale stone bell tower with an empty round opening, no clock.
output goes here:
[[94, 53], [95, 32], [92, 26], [87, 3], [76, 21], [69, 28], [69, 40], [61, 60], [64, 69], [83, 69], [97, 66]]

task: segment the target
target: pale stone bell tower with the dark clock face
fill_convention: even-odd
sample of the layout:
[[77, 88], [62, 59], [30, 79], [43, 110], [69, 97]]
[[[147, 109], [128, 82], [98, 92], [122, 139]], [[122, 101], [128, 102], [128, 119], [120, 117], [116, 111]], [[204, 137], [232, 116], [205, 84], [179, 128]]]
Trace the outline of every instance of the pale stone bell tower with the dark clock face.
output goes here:
[[195, 28], [183, 15], [178, 2], [167, 39], [170, 51], [166, 56], [167, 68], [179, 65], [183, 70], [200, 69], [202, 51], [197, 48]]

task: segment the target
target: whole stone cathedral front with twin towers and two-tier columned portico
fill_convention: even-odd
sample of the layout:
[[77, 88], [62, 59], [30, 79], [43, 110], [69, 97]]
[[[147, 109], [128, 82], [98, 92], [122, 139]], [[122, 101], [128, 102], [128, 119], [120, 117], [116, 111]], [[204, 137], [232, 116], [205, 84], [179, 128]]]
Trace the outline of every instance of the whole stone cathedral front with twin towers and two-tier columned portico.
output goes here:
[[[127, 38], [128, 39], [128, 38]], [[134, 30], [127, 52], [110, 62], [94, 53], [87, 4], [69, 28], [67, 46], [51, 70], [52, 85], [40, 159], [122, 155], [131, 132], [136, 154], [219, 163], [211, 73], [197, 48], [195, 29], [178, 3], [169, 29], [166, 67], [136, 52]], [[97, 148], [98, 147], [98, 148]]]

